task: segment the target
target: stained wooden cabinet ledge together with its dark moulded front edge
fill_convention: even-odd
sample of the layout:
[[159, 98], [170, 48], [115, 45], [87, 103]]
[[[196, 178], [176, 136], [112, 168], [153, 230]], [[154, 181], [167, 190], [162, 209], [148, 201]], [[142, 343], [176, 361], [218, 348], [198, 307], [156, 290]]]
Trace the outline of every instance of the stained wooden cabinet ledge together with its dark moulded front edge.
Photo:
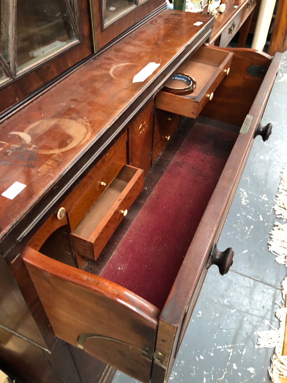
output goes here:
[[[194, 26], [199, 18], [200, 28]], [[32, 237], [162, 82], [209, 38], [212, 23], [209, 15], [162, 11], [1, 124], [0, 140], [7, 142], [1, 151], [1, 192], [15, 181], [27, 185], [14, 200], [0, 195], [3, 254]], [[131, 49], [137, 46], [141, 49]], [[161, 66], [146, 81], [133, 83], [149, 62]], [[125, 63], [135, 65], [126, 70]], [[15, 126], [31, 136], [29, 144], [9, 134]]]

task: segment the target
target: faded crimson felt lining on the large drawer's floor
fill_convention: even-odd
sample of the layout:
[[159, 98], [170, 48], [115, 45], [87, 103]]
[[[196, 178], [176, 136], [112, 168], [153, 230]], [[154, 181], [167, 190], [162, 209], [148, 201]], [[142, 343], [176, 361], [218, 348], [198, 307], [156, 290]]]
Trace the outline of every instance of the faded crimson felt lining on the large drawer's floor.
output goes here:
[[237, 137], [195, 124], [101, 277], [163, 308]]

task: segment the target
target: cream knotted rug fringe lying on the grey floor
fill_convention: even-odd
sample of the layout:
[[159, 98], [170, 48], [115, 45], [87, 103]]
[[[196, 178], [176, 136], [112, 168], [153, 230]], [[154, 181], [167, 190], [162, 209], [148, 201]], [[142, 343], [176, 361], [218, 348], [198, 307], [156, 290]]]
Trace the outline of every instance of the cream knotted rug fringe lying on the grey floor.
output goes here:
[[[281, 172], [281, 182], [276, 195], [274, 210], [277, 218], [287, 221], [287, 166]], [[271, 239], [268, 242], [269, 251], [276, 256], [276, 262], [287, 267], [287, 223], [275, 222], [270, 232]], [[275, 311], [280, 321], [278, 330], [257, 331], [257, 345], [255, 348], [275, 347], [274, 355], [271, 358], [271, 366], [268, 369], [272, 383], [287, 383], [287, 278], [282, 282], [282, 307]]]

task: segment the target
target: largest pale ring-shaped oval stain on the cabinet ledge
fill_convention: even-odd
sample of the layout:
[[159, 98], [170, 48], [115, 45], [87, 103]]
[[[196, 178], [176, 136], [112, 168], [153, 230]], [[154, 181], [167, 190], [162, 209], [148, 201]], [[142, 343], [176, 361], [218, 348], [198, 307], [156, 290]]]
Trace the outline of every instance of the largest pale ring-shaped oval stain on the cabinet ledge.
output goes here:
[[91, 124], [85, 119], [47, 118], [29, 125], [22, 134], [31, 137], [32, 144], [39, 147], [38, 154], [57, 154], [83, 144], [91, 133]]

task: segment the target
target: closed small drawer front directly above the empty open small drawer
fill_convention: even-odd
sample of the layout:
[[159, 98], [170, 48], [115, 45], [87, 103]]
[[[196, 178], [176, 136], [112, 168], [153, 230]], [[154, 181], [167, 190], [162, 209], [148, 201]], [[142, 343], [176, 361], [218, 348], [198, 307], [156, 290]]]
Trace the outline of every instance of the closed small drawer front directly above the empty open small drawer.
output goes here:
[[81, 222], [125, 164], [126, 145], [124, 144], [68, 210], [71, 231], [75, 230], [76, 226]]

